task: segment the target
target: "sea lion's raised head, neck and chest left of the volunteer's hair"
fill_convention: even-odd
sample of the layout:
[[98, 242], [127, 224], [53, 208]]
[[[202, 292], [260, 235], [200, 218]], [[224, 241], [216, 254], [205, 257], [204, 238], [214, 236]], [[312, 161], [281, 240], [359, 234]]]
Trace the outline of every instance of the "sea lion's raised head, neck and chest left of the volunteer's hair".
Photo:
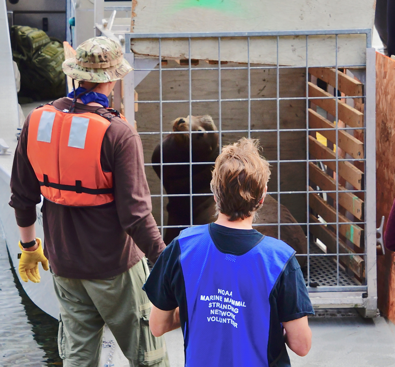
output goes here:
[[[209, 115], [179, 117], [172, 122], [173, 131], [189, 131], [189, 121], [192, 121], [192, 162], [214, 162], [218, 156], [218, 133], [208, 133], [217, 130]], [[189, 134], [170, 134], [163, 139], [164, 163], [189, 163]], [[152, 163], [160, 162], [160, 145], [152, 153]], [[160, 166], [153, 166], [160, 178]], [[210, 181], [213, 164], [192, 165], [192, 193], [211, 194]], [[163, 166], [163, 186], [168, 195], [190, 193], [189, 164]], [[167, 204], [168, 226], [190, 225], [190, 197], [169, 197]], [[192, 198], [193, 224], [212, 222], [215, 214], [213, 196], [194, 196]], [[180, 233], [180, 228], [166, 228], [164, 241], [169, 244]]]

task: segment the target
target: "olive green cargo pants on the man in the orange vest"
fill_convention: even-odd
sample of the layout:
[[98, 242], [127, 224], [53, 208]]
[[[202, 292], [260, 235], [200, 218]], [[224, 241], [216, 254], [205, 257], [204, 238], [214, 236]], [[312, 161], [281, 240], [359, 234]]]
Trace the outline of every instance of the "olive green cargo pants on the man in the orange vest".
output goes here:
[[164, 338], [154, 337], [149, 329], [152, 304], [141, 289], [148, 275], [145, 258], [110, 279], [69, 279], [53, 274], [60, 302], [58, 346], [64, 367], [99, 366], [105, 323], [130, 367], [169, 367]]

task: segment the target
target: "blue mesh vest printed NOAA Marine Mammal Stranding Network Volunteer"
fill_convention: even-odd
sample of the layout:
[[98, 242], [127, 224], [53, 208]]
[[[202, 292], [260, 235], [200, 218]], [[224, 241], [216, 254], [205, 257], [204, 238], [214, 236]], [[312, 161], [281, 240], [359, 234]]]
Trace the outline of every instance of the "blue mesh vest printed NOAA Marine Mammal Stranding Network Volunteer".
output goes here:
[[269, 296], [295, 251], [272, 237], [243, 255], [218, 250], [209, 225], [180, 233], [187, 367], [269, 367]]

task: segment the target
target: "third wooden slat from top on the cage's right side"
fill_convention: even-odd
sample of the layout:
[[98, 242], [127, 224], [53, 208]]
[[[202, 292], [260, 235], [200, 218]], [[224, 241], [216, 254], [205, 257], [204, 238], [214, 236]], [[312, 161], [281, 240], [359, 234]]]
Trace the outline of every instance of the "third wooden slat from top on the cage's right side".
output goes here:
[[[308, 126], [313, 129], [334, 129], [336, 126], [319, 113], [308, 109]], [[336, 145], [335, 130], [320, 130], [319, 133]], [[339, 147], [350, 154], [352, 158], [363, 158], [363, 143], [344, 130], [338, 130]]]

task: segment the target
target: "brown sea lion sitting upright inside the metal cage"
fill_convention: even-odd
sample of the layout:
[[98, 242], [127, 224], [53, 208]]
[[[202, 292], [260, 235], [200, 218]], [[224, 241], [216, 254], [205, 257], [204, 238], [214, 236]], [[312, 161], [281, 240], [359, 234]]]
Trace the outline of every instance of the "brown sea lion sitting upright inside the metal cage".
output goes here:
[[[192, 164], [192, 193], [212, 194], [210, 189], [211, 171], [213, 162], [219, 154], [218, 133], [213, 119], [209, 115], [179, 117], [171, 122], [173, 131], [189, 132], [189, 123], [192, 122], [192, 162], [210, 162], [207, 164]], [[189, 163], [189, 134], [169, 134], [163, 139], [164, 163]], [[160, 163], [160, 145], [152, 153], [152, 163]], [[153, 166], [160, 178], [160, 166]], [[167, 194], [190, 193], [190, 165], [163, 166], [163, 186]], [[169, 196], [167, 204], [168, 226], [189, 226], [190, 223], [190, 197]], [[278, 203], [276, 199], [267, 195], [263, 206], [257, 213], [258, 223], [277, 223]], [[192, 197], [193, 224], [207, 224], [215, 221], [215, 201], [212, 195]], [[280, 205], [280, 223], [297, 223], [290, 211]], [[256, 230], [270, 237], [278, 237], [277, 226], [254, 226]], [[168, 245], [177, 237], [182, 228], [166, 228], [164, 241]], [[297, 254], [307, 253], [307, 239], [301, 226], [281, 226], [280, 238], [290, 245]], [[307, 258], [298, 256], [297, 260], [303, 267]]]

